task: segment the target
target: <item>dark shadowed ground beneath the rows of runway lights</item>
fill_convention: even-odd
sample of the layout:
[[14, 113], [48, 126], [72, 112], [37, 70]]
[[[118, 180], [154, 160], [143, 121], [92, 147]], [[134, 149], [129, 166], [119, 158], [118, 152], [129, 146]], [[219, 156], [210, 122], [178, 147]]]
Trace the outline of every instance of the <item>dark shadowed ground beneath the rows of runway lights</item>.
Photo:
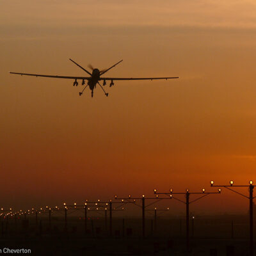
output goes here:
[[[140, 219], [115, 219], [112, 230], [104, 218], [34, 218], [2, 220], [3, 248], [30, 249], [30, 255], [249, 255], [247, 221], [243, 216], [204, 218], [190, 227], [189, 251], [183, 220], [146, 221], [145, 238]], [[112, 233], [112, 234], [110, 234]], [[14, 253], [13, 253], [14, 254]], [[22, 253], [20, 253], [22, 254]], [[23, 254], [25, 255], [25, 253]], [[28, 254], [26, 254], [28, 255]]]

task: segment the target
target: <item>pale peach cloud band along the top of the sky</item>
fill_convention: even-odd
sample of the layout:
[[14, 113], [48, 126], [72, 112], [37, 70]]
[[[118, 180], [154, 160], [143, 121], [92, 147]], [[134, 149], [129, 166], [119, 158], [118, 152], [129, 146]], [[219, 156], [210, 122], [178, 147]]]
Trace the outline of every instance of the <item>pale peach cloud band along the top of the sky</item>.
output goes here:
[[256, 28], [255, 13], [256, 3], [249, 0], [24, 0], [3, 1], [0, 23]]

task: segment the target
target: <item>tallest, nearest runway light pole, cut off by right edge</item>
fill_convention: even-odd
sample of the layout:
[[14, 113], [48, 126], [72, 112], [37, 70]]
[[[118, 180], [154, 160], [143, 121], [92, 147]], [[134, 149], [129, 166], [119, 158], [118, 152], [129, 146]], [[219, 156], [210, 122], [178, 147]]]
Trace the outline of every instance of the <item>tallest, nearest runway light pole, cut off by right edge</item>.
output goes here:
[[[253, 248], [253, 181], [249, 181], [249, 185], [234, 185], [234, 180], [230, 180], [229, 185], [214, 185], [214, 181], [211, 180], [211, 187], [218, 187], [218, 188], [227, 188], [230, 191], [237, 193], [245, 198], [249, 199], [249, 223], [250, 223], [250, 256], [253, 256], [254, 248]], [[249, 196], [243, 195], [242, 193], [237, 192], [236, 190], [232, 189], [234, 187], [243, 187], [249, 188]]]

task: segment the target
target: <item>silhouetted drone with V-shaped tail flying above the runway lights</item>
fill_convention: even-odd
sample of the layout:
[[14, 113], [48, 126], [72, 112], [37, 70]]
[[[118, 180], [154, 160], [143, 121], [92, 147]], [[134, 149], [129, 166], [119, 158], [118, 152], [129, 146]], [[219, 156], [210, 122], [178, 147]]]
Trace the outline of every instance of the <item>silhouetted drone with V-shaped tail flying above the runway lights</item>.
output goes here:
[[[17, 73], [17, 72], [9, 72], [10, 74], [16, 74], [16, 75], [21, 75], [21, 76], [36, 76], [36, 77], [51, 77], [51, 78], [62, 78], [62, 79], [74, 79], [73, 86], [78, 86], [78, 81], [81, 81], [81, 85], [84, 86], [87, 81], [87, 84], [84, 86], [82, 92], [79, 92], [79, 96], [83, 95], [84, 90], [86, 89], [87, 86], [89, 86], [92, 97], [93, 97], [93, 90], [96, 88], [96, 85], [99, 84], [100, 88], [103, 90], [105, 95], [108, 97], [108, 93], [104, 90], [103, 86], [106, 86], [107, 82], [106, 81], [111, 81], [109, 83], [109, 87], [114, 85], [114, 81], [118, 80], [157, 80], [157, 79], [177, 79], [179, 77], [137, 77], [137, 78], [129, 78], [129, 77], [102, 77], [103, 74], [108, 72], [111, 68], [115, 67], [118, 65], [120, 62], [123, 60], [118, 61], [115, 63], [115, 65], [106, 68], [104, 70], [99, 70], [98, 68], [93, 68], [92, 65], [88, 65], [88, 68], [92, 70], [92, 72], [89, 72], [85, 68], [81, 67], [78, 63], [76, 63], [74, 60], [69, 59], [72, 61], [74, 64], [77, 65], [77, 67], [81, 68], [86, 72], [89, 76], [49, 76], [49, 75], [40, 75], [40, 74], [27, 74], [27, 73]], [[103, 84], [101, 85], [100, 82], [103, 81]]]

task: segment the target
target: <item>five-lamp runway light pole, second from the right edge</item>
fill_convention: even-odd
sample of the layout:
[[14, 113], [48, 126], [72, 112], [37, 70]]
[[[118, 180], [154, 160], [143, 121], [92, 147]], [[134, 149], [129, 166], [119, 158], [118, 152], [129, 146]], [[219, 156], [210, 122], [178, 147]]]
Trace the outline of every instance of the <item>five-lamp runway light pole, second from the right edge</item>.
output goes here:
[[[157, 189], [154, 189], [154, 193], [157, 195], [169, 196], [170, 198], [178, 200], [179, 202], [186, 205], [186, 248], [187, 248], [187, 252], [188, 252], [189, 251], [189, 204], [192, 204], [193, 202], [196, 202], [210, 194], [220, 194], [221, 189], [219, 189], [218, 192], [205, 192], [204, 188], [202, 189], [202, 192], [189, 192], [189, 189], [186, 189], [186, 192], [181, 192], [181, 193], [173, 193], [173, 189], [170, 189], [170, 192], [167, 192], [167, 193], [166, 192], [159, 193], [159, 192], [157, 192]], [[186, 201], [180, 200], [179, 198], [175, 198], [173, 195], [185, 195]], [[196, 198], [192, 201], [189, 201], [190, 195], [202, 195], [202, 196], [199, 196], [198, 198]]]

